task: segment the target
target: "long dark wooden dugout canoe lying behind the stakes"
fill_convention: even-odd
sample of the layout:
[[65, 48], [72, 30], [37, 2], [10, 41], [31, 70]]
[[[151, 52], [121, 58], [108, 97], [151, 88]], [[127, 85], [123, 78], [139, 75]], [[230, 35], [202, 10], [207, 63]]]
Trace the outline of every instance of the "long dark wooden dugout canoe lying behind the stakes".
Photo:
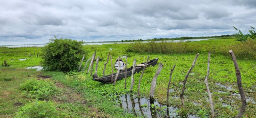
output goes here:
[[[156, 63], [158, 61], [158, 58], [156, 59], [152, 59], [148, 62], [143, 62], [141, 64], [146, 64], [147, 63], [147, 67], [149, 66], [155, 66]], [[135, 66], [135, 70], [134, 70], [134, 74], [135, 73], [138, 73], [139, 71], [142, 71], [143, 70], [143, 67], [144, 66]], [[113, 73], [113, 79], [115, 79], [117, 73]], [[132, 66], [130, 68], [127, 68], [127, 77], [131, 76], [132, 75]], [[118, 75], [118, 78], [117, 78], [117, 81], [121, 80], [125, 78], [125, 70], [122, 70], [119, 72], [119, 75]], [[111, 74], [110, 75], [107, 75], [107, 76], [103, 76], [101, 78], [95, 78], [93, 79], [94, 81], [98, 81], [98, 82], [102, 82], [102, 83], [112, 83], [111, 82]]]

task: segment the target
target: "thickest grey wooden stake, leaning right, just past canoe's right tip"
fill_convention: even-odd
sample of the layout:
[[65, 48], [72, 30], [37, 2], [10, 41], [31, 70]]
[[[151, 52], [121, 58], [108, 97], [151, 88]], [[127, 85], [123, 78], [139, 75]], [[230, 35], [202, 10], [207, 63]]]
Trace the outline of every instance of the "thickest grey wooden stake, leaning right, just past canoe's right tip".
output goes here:
[[151, 81], [151, 87], [150, 87], [150, 92], [149, 92], [150, 100], [154, 99], [155, 89], [156, 89], [156, 78], [158, 77], [158, 75], [161, 72], [162, 68], [163, 68], [163, 64], [159, 63], [159, 66], [158, 66], [158, 68], [156, 70], [155, 76], [154, 76], [153, 80]]

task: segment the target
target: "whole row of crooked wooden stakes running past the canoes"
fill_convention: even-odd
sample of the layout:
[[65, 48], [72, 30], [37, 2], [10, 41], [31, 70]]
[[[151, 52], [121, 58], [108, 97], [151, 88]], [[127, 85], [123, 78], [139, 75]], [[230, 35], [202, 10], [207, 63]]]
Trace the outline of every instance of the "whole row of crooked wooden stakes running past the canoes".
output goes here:
[[[244, 114], [245, 112], [245, 109], [246, 109], [246, 96], [245, 96], [245, 93], [244, 93], [244, 89], [242, 87], [242, 83], [241, 83], [241, 74], [240, 74], [240, 70], [239, 70], [239, 67], [238, 67], [238, 64], [237, 64], [237, 61], [236, 61], [236, 57], [235, 57], [235, 54], [233, 53], [232, 50], [229, 51], [229, 53], [231, 54], [231, 57], [233, 59], [233, 63], [234, 63], [234, 67], [235, 67], [235, 71], [236, 71], [236, 79], [237, 79], [237, 85], [238, 85], [238, 90], [239, 90], [239, 93], [240, 93], [240, 96], [241, 96], [241, 107], [240, 107], [240, 110], [239, 110], [239, 113], [236, 115], [235, 118], [241, 118], [242, 115]], [[79, 65], [79, 69], [78, 71], [80, 71], [80, 68], [81, 68], [81, 64], [83, 62], [83, 59], [84, 59], [84, 56], [83, 55], [83, 58], [82, 58], [82, 61]], [[93, 72], [93, 63], [94, 63], [94, 59], [95, 59], [95, 56], [96, 56], [96, 51], [94, 52], [93, 56], [91, 58], [89, 58], [86, 63], [85, 63], [85, 66], [83, 68], [82, 71], [84, 71], [87, 63], [89, 60], [91, 60], [91, 63], [89, 64], [89, 68], [86, 72], [86, 74], [88, 74], [88, 72], [91, 70], [91, 76], [92, 76], [92, 72]], [[111, 61], [111, 66], [112, 66], [112, 80], [113, 80], [113, 64], [112, 64], [112, 57], [110, 55], [110, 52], [108, 53], [108, 57], [107, 57], [107, 62], [104, 63], [104, 69], [103, 69], [103, 76], [105, 76], [105, 69], [106, 69], [106, 65], [108, 63], [108, 60], [109, 60], [109, 56], [110, 56], [110, 61]], [[199, 53], [196, 55], [194, 61], [193, 61], [193, 64], [191, 65], [191, 67], [189, 68], [189, 70], [187, 71], [186, 73], [186, 76], [185, 76], [185, 79], [184, 79], [184, 82], [183, 82], [183, 86], [182, 86], [182, 92], [180, 94], [180, 99], [181, 99], [181, 104], [182, 104], [182, 108], [185, 109], [185, 103], [184, 103], [184, 91], [185, 91], [185, 85], [186, 85], [186, 81], [187, 81], [187, 78], [188, 78], [188, 75], [189, 73], [191, 72], [191, 70], [193, 69], [193, 67], [195, 66], [196, 64], [196, 60], [199, 56]], [[211, 93], [210, 93], [210, 89], [209, 89], [209, 85], [208, 85], [208, 77], [209, 77], [209, 70], [210, 70], [210, 56], [211, 56], [211, 53], [209, 52], [208, 53], [208, 62], [207, 62], [207, 75], [206, 75], [206, 78], [205, 78], [205, 85], [206, 85], [206, 89], [207, 89], [207, 93], [208, 93], [208, 97], [209, 97], [209, 101], [210, 101], [210, 106], [211, 106], [211, 117], [214, 118], [214, 106], [213, 106], [213, 102], [212, 102], [212, 98], [211, 98]], [[125, 56], [126, 57], [126, 65], [127, 65], [127, 55]], [[95, 74], [93, 75], [94, 78], [97, 78], [98, 75], [97, 75], [97, 68], [98, 68], [98, 62], [99, 62], [99, 58], [100, 57], [97, 57], [96, 59], [96, 69], [95, 69]], [[119, 56], [120, 58], [120, 56]], [[147, 58], [147, 62], [149, 61], [149, 56]], [[130, 92], [132, 92], [132, 88], [133, 88], [133, 85], [134, 85], [134, 78], [133, 78], [133, 71], [135, 69], [135, 65], [136, 65], [136, 59], [134, 59], [133, 61], [133, 70], [132, 70], [132, 75], [131, 75], [131, 87], [130, 87]], [[173, 66], [173, 68], [171, 69], [170, 71], [170, 78], [169, 78], [169, 82], [168, 82], [168, 87], [167, 87], [167, 106], [169, 106], [169, 94], [170, 94], [170, 83], [171, 83], [171, 79], [172, 79], [172, 73], [175, 69], [175, 64]], [[140, 75], [140, 78], [139, 78], [139, 83], [138, 83], [138, 95], [140, 95], [140, 82], [142, 80], [142, 77], [143, 77], [143, 73], [145, 71], [147, 67], [147, 64], [144, 66], [143, 68], [143, 71]], [[156, 70], [156, 73], [155, 73], [155, 76], [153, 77], [152, 81], [151, 81], [151, 87], [150, 87], [150, 99], [152, 100], [154, 98], [154, 93], [155, 93], [155, 88], [156, 88], [156, 79], [159, 75], [159, 73], [161, 72], [161, 69], [163, 67], [163, 64], [162, 63], [159, 63], [159, 66], [158, 66], [158, 69]], [[119, 63], [119, 68], [120, 68], [120, 63]], [[125, 68], [126, 69], [126, 68]], [[117, 71], [117, 76], [116, 78], [112, 81], [113, 82], [113, 85], [116, 84], [116, 79], [118, 77], [118, 74], [119, 74], [119, 71], [120, 69], [118, 69]], [[125, 89], [126, 89], [126, 76], [125, 76]]]

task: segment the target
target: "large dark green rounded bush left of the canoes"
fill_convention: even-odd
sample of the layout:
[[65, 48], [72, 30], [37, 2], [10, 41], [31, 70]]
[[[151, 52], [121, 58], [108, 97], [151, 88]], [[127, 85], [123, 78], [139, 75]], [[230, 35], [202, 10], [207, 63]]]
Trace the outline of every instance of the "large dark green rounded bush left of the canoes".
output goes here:
[[68, 38], [50, 39], [43, 48], [43, 67], [55, 71], [71, 71], [78, 69], [83, 50], [83, 41]]

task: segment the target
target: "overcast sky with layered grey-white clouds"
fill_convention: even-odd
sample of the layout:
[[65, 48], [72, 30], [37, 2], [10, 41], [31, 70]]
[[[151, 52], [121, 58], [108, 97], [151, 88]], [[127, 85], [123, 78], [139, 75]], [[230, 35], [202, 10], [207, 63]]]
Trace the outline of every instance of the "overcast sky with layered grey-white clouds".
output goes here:
[[256, 0], [0, 0], [0, 45], [233, 34], [256, 27]]

